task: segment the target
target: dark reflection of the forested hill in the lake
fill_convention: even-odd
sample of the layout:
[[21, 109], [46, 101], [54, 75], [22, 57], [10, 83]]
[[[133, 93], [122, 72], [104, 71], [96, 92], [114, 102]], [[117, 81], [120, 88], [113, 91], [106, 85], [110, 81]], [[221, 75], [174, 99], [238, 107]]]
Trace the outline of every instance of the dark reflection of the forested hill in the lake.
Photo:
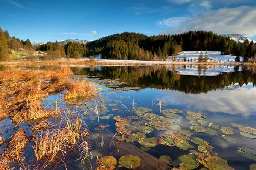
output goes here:
[[128, 82], [127, 86], [141, 88], [157, 88], [182, 91], [185, 93], [200, 94], [225, 88], [233, 83], [240, 86], [252, 82], [256, 84], [256, 74], [253, 68], [244, 67], [242, 71], [221, 73], [218, 76], [205, 76], [207, 67], [198, 67], [204, 76], [180, 75], [175, 66], [111, 66], [101, 70], [90, 68], [72, 68], [74, 74], [93, 75], [103, 79], [120, 79]]

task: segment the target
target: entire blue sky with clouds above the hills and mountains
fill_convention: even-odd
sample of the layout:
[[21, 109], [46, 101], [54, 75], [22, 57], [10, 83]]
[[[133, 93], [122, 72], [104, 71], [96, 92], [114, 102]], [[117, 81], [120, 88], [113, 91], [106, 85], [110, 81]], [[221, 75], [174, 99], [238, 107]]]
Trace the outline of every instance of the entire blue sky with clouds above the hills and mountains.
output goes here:
[[254, 0], [0, 0], [0, 6], [2, 29], [31, 42], [199, 29], [256, 40]]

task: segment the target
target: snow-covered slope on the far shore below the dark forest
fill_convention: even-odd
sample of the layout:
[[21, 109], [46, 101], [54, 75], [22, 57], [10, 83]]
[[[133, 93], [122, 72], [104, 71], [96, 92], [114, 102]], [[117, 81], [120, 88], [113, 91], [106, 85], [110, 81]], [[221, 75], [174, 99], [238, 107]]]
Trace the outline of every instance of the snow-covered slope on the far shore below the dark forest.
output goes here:
[[[221, 55], [220, 51], [207, 51], [208, 53], [208, 62], [235, 62], [236, 56], [232, 55]], [[200, 51], [183, 51], [181, 52], [177, 57], [176, 61], [184, 61], [184, 58], [186, 57], [189, 62], [192, 59], [192, 62], [198, 61], [198, 56], [200, 54]], [[205, 51], [203, 51], [203, 55], [205, 54]], [[243, 57], [240, 57], [240, 61], [243, 60]]]

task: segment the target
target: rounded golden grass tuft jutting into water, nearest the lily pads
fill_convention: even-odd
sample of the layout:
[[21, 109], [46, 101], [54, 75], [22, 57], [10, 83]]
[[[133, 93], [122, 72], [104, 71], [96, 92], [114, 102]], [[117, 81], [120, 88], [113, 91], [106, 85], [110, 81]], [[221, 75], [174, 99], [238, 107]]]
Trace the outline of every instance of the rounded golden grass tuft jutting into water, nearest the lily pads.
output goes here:
[[96, 89], [93, 84], [86, 81], [70, 82], [67, 85], [68, 92], [65, 99], [90, 98], [96, 96]]

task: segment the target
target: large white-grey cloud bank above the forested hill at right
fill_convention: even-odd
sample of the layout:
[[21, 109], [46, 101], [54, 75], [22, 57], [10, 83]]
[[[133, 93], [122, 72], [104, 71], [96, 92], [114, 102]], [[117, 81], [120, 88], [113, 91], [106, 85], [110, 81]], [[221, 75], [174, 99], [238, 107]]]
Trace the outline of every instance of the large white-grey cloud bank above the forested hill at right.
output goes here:
[[[178, 34], [186, 31], [205, 30], [217, 34], [236, 33], [247, 34], [250, 37], [256, 35], [256, 7], [240, 6], [237, 8], [223, 8], [210, 11], [193, 18], [172, 17], [157, 21], [157, 25], [170, 28], [161, 34]], [[182, 20], [178, 20], [181, 18]], [[185, 19], [185, 20], [184, 20]], [[176, 26], [173, 27], [172, 23]]]

